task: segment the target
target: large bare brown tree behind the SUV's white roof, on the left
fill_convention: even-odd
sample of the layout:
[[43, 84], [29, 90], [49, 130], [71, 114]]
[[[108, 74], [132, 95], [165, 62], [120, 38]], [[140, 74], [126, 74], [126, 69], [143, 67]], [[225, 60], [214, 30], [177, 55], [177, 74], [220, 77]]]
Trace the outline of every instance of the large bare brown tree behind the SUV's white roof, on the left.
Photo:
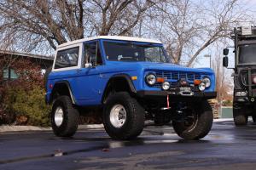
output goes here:
[[[0, 40], [30, 51], [93, 35], [125, 35], [156, 2], [149, 0], [3, 0]], [[26, 42], [26, 43], [24, 43]], [[47, 43], [45, 43], [47, 42]]]

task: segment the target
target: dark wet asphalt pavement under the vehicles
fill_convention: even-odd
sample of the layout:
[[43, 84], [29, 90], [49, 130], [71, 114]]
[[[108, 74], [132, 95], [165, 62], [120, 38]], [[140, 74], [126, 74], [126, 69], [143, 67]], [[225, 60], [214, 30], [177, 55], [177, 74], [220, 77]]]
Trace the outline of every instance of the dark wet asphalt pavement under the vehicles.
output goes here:
[[51, 131], [0, 133], [0, 169], [256, 169], [256, 124], [214, 122], [206, 138], [186, 141], [172, 126], [144, 128], [115, 141], [103, 128], [61, 139]]

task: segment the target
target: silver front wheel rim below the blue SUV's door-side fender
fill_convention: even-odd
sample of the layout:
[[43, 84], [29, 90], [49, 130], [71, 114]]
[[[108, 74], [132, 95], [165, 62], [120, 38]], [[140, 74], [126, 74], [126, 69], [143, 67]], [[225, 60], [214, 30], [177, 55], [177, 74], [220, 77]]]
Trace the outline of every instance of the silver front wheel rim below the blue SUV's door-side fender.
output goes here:
[[113, 127], [122, 127], [126, 122], [126, 111], [123, 105], [113, 105], [110, 111], [110, 122]]

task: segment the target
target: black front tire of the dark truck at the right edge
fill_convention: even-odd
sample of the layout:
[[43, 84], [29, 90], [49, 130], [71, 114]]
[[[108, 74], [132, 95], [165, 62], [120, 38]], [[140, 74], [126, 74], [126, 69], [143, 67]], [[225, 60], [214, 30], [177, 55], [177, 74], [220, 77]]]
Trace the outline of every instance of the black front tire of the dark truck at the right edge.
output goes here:
[[233, 118], [236, 127], [246, 126], [248, 122], [246, 109], [242, 108], [240, 105], [233, 105]]

